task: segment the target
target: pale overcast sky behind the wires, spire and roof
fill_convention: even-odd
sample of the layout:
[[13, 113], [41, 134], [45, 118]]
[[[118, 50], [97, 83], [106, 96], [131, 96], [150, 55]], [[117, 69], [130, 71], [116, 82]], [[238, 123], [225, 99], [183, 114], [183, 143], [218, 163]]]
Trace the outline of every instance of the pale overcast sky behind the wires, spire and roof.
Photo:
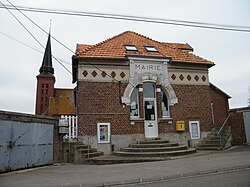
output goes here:
[[[0, 0], [8, 4], [6, 0]], [[249, 0], [10, 0], [16, 6], [52, 8], [176, 19], [250, 27]], [[47, 35], [17, 11], [12, 11], [45, 46]], [[75, 51], [77, 43], [96, 44], [130, 30], [160, 42], [188, 43], [194, 54], [213, 61], [210, 82], [232, 97], [230, 108], [248, 105], [250, 87], [250, 33], [101, 18], [24, 12], [51, 35]], [[5, 9], [0, 9], [0, 110], [34, 113], [36, 76], [44, 51]], [[250, 28], [248, 28], [250, 29]], [[6, 36], [7, 35], [7, 36]], [[71, 70], [69, 50], [52, 40], [52, 53]], [[53, 61], [57, 88], [73, 88], [72, 77]]]

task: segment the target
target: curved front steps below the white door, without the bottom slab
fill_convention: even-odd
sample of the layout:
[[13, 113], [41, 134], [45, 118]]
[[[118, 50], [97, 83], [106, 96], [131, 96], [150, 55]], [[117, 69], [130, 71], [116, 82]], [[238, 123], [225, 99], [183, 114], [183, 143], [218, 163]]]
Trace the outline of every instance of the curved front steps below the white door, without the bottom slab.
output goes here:
[[170, 143], [168, 140], [145, 140], [130, 144], [127, 148], [113, 152], [123, 157], [171, 157], [195, 153], [196, 150], [186, 145]]

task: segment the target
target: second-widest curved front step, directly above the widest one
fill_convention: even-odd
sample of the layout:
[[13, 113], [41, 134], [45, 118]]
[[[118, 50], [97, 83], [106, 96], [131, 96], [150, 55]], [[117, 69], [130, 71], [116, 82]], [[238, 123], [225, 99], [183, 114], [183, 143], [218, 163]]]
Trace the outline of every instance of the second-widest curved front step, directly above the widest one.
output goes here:
[[121, 151], [123, 152], [168, 152], [168, 151], [185, 150], [185, 149], [187, 149], [186, 145], [180, 145], [180, 146], [175, 146], [175, 147], [150, 147], [150, 148], [128, 147], [128, 148], [121, 149]]

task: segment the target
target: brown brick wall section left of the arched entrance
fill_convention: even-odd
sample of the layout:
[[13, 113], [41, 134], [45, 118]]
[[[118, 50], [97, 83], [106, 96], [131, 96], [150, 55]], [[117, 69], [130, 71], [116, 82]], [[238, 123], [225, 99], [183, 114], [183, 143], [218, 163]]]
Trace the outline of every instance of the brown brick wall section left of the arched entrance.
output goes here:
[[[97, 134], [97, 123], [111, 123], [112, 134], [144, 133], [140, 124], [130, 124], [130, 108], [121, 104], [126, 84], [78, 82], [79, 133]], [[120, 89], [120, 90], [119, 90]]]

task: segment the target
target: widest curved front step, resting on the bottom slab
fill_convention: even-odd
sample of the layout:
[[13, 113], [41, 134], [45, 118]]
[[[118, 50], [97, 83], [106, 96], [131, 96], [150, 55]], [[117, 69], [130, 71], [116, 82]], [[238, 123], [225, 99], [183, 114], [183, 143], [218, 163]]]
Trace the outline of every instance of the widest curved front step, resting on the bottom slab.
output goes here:
[[163, 152], [124, 152], [115, 151], [113, 154], [118, 156], [128, 156], [128, 157], [164, 157], [164, 156], [179, 156], [184, 154], [195, 153], [196, 149], [189, 148], [186, 150], [176, 150], [176, 151], [163, 151]]

